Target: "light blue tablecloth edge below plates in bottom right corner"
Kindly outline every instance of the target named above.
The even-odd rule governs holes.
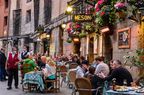
[[[136,93],[135,91],[118,92],[113,90],[107,90],[106,95],[144,95],[144,93]]]

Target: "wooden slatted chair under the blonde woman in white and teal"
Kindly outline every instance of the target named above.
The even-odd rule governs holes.
[[[44,80],[45,84],[47,83],[52,83],[53,84],[53,88],[49,89],[45,88],[46,92],[59,92],[60,91],[60,71],[59,71],[59,67],[56,65],[56,73],[55,73],[55,79],[54,80]]]

